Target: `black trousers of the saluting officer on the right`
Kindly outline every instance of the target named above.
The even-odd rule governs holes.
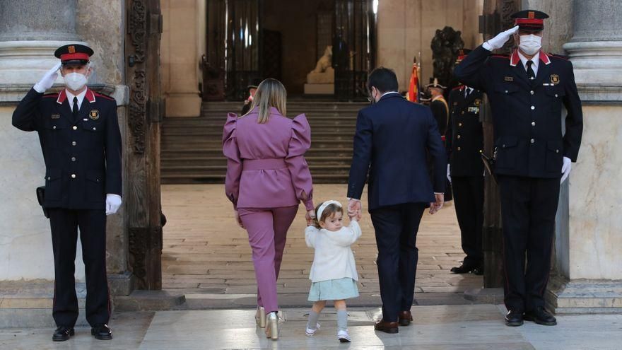
[[[507,310],[520,313],[544,308],[559,180],[498,175]]]

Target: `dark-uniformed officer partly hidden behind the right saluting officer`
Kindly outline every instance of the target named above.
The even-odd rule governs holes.
[[[457,64],[471,52],[461,49]],[[483,226],[483,129],[480,105],[483,93],[469,86],[450,92],[450,122],[447,126],[447,179],[452,182],[456,216],[460,226],[462,250],[467,257],[454,274],[483,274],[481,230]]]

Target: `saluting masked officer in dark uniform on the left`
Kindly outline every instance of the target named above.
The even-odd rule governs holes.
[[[45,159],[45,199],[54,249],[52,340],[74,335],[78,318],[75,267],[78,228],[86,272],[86,320],[96,339],[112,339],[110,293],[106,278],[106,215],[121,205],[121,133],[113,98],[86,86],[90,74],[84,45],[64,45],[50,69],[13,112],[13,126],[39,133]],[[58,76],[60,93],[44,95]]]

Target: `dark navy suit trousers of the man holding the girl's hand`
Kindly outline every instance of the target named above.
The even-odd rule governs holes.
[[[378,279],[382,318],[396,322],[399,312],[410,310],[415,292],[417,231],[426,204],[404,203],[370,211],[378,247]]]

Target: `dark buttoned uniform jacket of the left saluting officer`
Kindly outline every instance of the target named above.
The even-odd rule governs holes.
[[[88,89],[75,120],[69,103],[64,90],[31,89],[13,112],[13,126],[39,133],[46,208],[105,209],[106,194],[122,194],[117,103]]]

